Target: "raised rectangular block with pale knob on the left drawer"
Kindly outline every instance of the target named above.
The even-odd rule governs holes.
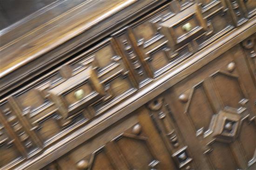
[[[63,118],[81,110],[104,95],[104,89],[92,67],[82,70],[48,91],[49,99],[59,108]]]

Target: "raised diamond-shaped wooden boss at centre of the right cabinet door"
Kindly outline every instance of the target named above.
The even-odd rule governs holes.
[[[215,119],[213,134],[217,141],[229,143],[236,139],[240,128],[241,115],[228,110],[221,110]]]

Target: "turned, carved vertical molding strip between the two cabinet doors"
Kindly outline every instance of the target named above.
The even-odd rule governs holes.
[[[161,96],[157,97],[149,101],[147,106],[154,115],[152,119],[155,120],[157,127],[161,131],[162,139],[168,145],[168,150],[172,153],[176,166],[179,169],[185,167],[186,170],[194,167],[188,146],[183,144],[182,135],[165,99]]]

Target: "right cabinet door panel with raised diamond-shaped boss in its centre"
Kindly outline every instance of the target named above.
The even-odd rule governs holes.
[[[236,45],[164,94],[196,164],[214,170],[255,166],[255,93],[248,92],[256,89],[246,67]]]

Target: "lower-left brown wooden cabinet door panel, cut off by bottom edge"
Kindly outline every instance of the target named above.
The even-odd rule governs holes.
[[[176,169],[145,107],[52,164],[56,164],[60,170],[71,167],[77,170]]]

